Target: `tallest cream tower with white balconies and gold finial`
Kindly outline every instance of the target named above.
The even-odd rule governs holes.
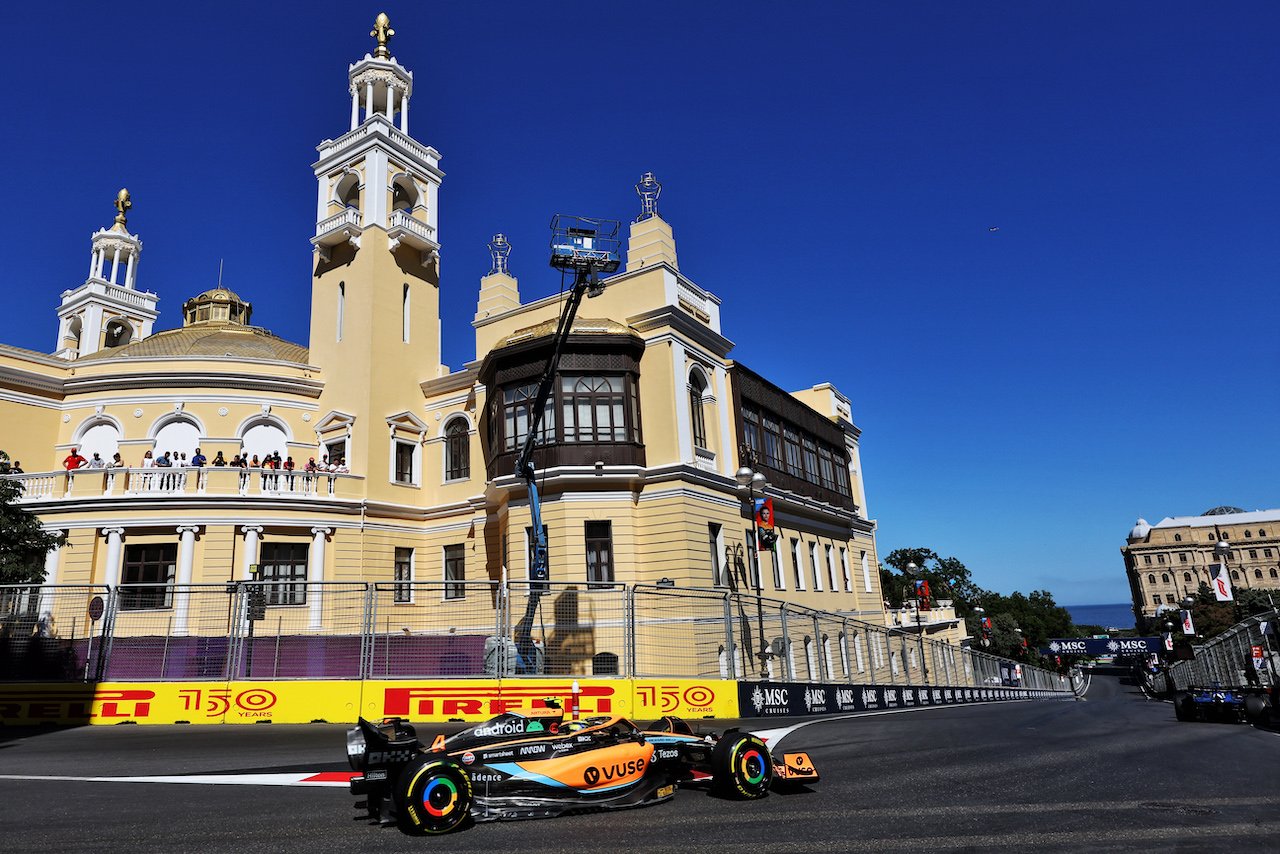
[[[378,15],[374,52],[348,68],[351,127],[317,146],[311,364],[321,406],[355,419],[344,453],[370,483],[393,479],[385,419],[421,401],[439,376],[438,193],[440,155],[410,136],[413,74],[388,49]],[[413,407],[419,408],[420,407]],[[324,440],[325,437],[321,435]]]

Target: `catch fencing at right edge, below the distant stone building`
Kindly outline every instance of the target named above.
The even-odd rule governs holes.
[[[1155,690],[1180,691],[1196,686],[1272,688],[1280,684],[1280,645],[1271,629],[1280,611],[1249,617],[1238,622],[1212,640],[1194,647],[1193,661],[1179,661],[1166,672],[1152,677]],[[1260,652],[1261,656],[1254,656]],[[1261,665],[1261,666],[1260,666]]]

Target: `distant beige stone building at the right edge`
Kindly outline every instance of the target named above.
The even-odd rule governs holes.
[[[1169,516],[1156,525],[1139,519],[1124,554],[1134,613],[1149,617],[1176,607],[1201,581],[1208,583],[1213,547],[1231,544],[1228,566],[1236,589],[1280,590],[1280,510],[1215,507],[1199,516]]]

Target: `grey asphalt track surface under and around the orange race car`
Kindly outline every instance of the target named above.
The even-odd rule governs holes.
[[[781,743],[822,773],[797,794],[744,803],[686,789],[645,809],[434,839],[353,821],[339,786],[251,782],[344,771],[343,731],[0,729],[0,851],[1280,850],[1280,735],[1179,723],[1169,703],[1115,676],[1094,676],[1078,702],[808,723]],[[157,776],[205,782],[118,780]]]

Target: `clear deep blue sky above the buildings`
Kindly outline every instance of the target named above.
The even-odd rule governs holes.
[[[20,4],[0,341],[54,348],[127,186],[161,328],[225,259],[306,343],[310,164],[381,10],[449,365],[495,232],[544,296],[550,216],[634,218],[653,170],[732,356],[851,398],[882,554],[1124,602],[1139,515],[1280,506],[1275,3]]]

